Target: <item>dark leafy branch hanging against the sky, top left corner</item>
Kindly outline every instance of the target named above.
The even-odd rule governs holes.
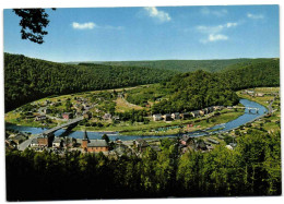
[[[22,39],[43,44],[44,36],[48,34],[44,28],[49,24],[45,9],[13,9],[13,12],[22,17],[20,21]]]

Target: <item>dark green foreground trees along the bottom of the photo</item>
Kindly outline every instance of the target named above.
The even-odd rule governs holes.
[[[7,151],[8,201],[168,196],[280,195],[281,137],[252,131],[238,146],[179,156],[177,140],[162,140],[142,157]]]

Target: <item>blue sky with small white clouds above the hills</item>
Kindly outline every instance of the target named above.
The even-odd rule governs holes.
[[[4,51],[50,61],[280,57],[277,5],[47,10],[43,45],[4,10]]]

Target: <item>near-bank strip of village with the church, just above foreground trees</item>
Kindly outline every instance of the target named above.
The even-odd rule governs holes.
[[[137,139],[131,141],[109,141],[108,136],[104,134],[102,140],[90,140],[87,132],[82,132],[82,139],[74,139],[70,136],[59,137],[59,136],[45,136],[38,135],[35,137],[25,136],[23,133],[13,133],[5,140],[5,146],[11,149],[16,149],[22,143],[29,140],[29,144],[26,148],[36,152],[54,152],[56,154],[64,155],[66,152],[81,152],[81,153],[103,153],[106,156],[121,156],[123,154],[137,156],[142,155],[147,148],[155,152],[161,152],[161,142],[163,140],[168,140],[176,144],[179,153],[184,154],[187,151],[201,151],[210,152],[215,145],[224,143],[224,136],[221,134],[217,137],[192,137],[189,135],[182,135],[181,137],[167,137],[167,139]],[[226,145],[229,149],[236,147],[236,143],[232,142]],[[21,149],[24,151],[24,149]]]

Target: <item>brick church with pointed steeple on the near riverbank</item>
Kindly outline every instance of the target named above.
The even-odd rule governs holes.
[[[87,153],[108,152],[109,147],[105,140],[88,140],[86,131],[82,140],[82,148]]]

